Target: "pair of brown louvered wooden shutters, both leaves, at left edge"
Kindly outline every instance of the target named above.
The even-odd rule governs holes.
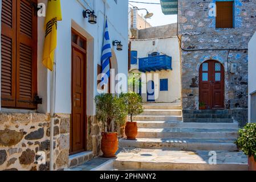
[[[26,0],[2,1],[1,24],[2,106],[36,109],[37,17],[34,8]]]

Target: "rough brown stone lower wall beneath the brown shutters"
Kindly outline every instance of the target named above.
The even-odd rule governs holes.
[[[70,115],[54,119],[54,169],[67,168]],[[40,163],[42,152],[46,164]],[[50,115],[0,113],[0,170],[46,171],[50,159]]]

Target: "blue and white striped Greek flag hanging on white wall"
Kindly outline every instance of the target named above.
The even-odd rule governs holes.
[[[108,34],[108,20],[106,20],[103,48],[101,53],[101,83],[100,83],[101,86],[104,84],[108,84],[108,78],[110,77],[110,67],[109,67],[110,57],[112,57],[112,53],[111,53],[111,44],[110,44],[110,39]]]

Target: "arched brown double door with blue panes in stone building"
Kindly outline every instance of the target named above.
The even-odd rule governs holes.
[[[215,60],[205,61],[199,71],[199,101],[206,109],[224,109],[224,67]]]

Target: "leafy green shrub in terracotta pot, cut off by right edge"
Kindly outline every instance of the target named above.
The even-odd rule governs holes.
[[[256,171],[256,123],[247,123],[240,129],[235,144],[248,156],[249,171]]]

